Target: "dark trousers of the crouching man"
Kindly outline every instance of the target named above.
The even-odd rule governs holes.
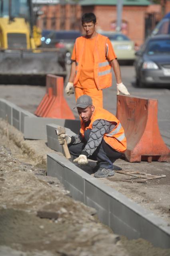
[[[83,142],[80,142],[79,144],[68,145],[70,154],[72,154],[73,156],[79,156],[81,154],[81,152],[83,151],[89,139],[90,132],[91,132],[91,129],[87,129],[84,132]],[[104,167],[106,169],[113,169],[114,161],[120,158],[121,156],[122,156],[122,153],[114,150],[111,146],[109,146],[104,141],[104,139],[102,139],[102,142],[100,143],[100,145],[97,147],[94,153],[88,158],[98,161],[99,167]]]

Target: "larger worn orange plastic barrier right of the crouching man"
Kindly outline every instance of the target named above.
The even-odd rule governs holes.
[[[117,113],[127,138],[126,159],[170,162],[158,127],[158,100],[117,95]]]

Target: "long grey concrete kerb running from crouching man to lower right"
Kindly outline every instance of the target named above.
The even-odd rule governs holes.
[[[72,197],[97,210],[100,221],[128,239],[144,238],[170,248],[168,223],[120,192],[91,177],[64,156],[47,154],[47,175],[57,177]]]

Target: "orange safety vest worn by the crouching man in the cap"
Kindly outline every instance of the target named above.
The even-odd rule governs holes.
[[[81,119],[81,127],[80,127],[81,135],[84,137],[84,131],[87,129],[92,129],[92,125],[94,121],[96,121],[97,119],[103,119],[113,124],[116,123],[116,126],[114,127],[114,129],[109,133],[105,133],[103,138],[107,144],[109,144],[112,148],[114,148],[114,150],[124,153],[127,148],[124,129],[120,124],[120,121],[116,118],[116,116],[114,116],[113,114],[111,114],[110,112],[108,112],[103,108],[98,108],[94,110],[90,119],[89,126],[85,127],[85,123]]]

